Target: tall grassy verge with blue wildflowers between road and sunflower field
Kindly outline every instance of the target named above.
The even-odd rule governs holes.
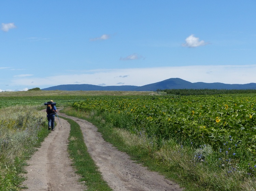
[[[65,109],[68,115],[87,119],[98,126],[106,141],[127,152],[133,159],[144,163],[151,170],[158,171],[175,180],[186,190],[252,191],[256,189],[256,167],[247,163],[252,159],[239,158],[232,137],[214,150],[210,145],[196,146],[193,142],[179,142],[175,139],[159,140],[148,136],[146,131],[124,129],[132,124],[127,116],[109,112],[79,112]],[[123,127],[123,128],[119,128]],[[146,127],[145,127],[146,128]],[[129,131],[127,131],[129,129]],[[160,146],[159,146],[160,145]],[[238,164],[243,164],[238,166]],[[248,174],[251,170],[251,174]]]

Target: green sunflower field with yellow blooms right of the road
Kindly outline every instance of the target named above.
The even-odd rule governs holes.
[[[256,94],[90,97],[75,102],[73,107],[126,115],[132,124],[124,124],[124,128],[143,128],[149,136],[159,139],[175,137],[198,146],[211,144],[214,148],[231,139],[237,144],[236,149],[256,153],[255,102]]]

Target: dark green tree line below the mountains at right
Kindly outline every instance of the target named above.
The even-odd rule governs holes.
[[[234,93],[256,93],[256,89],[158,89],[157,91],[166,92],[173,95],[215,95],[215,94],[234,94]]]

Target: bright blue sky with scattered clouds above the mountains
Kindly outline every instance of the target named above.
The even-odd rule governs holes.
[[[3,0],[0,91],[256,83],[256,1]]]

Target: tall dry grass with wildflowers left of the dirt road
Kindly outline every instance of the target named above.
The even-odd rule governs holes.
[[[0,190],[20,190],[25,160],[47,135],[44,112],[31,106],[0,109]]]

